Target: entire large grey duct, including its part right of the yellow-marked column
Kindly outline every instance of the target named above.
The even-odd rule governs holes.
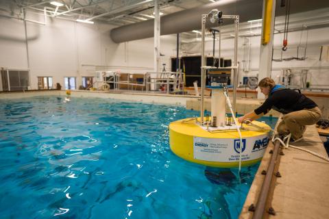
[[[291,0],[291,14],[326,8],[328,0]],[[161,35],[178,34],[193,29],[201,29],[201,16],[208,14],[212,9],[218,9],[223,14],[234,14],[240,16],[240,22],[262,18],[263,0],[221,0],[215,3],[208,3],[201,7],[191,8],[173,14],[161,16]],[[280,8],[280,3],[276,6],[276,16],[283,15],[285,8]],[[232,20],[224,20],[224,25],[232,23]],[[206,27],[214,27],[217,24],[207,23]],[[114,42],[126,42],[130,40],[141,40],[154,36],[154,19],[125,25],[112,29],[110,36]]]

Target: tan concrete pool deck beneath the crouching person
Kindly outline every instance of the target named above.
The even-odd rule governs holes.
[[[307,127],[304,140],[292,145],[300,146],[328,158],[315,125]],[[253,212],[248,211],[248,208],[257,203],[258,194],[265,178],[261,172],[267,170],[271,149],[273,149],[273,144],[270,144],[265,152],[239,218],[252,218],[253,216]],[[265,209],[267,211],[269,207],[273,207],[276,216],[265,213],[263,218],[328,218],[329,162],[298,149],[289,148],[284,149],[283,152],[284,155],[279,155],[280,162],[274,171],[274,173],[279,171],[282,177],[273,178]]]

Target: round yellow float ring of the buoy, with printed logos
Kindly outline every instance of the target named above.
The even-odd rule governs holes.
[[[269,142],[270,127],[257,121],[253,123],[263,129],[251,125],[244,125],[241,129],[244,145],[242,166],[251,166],[260,161]],[[234,147],[239,145],[239,142],[238,131],[225,130],[210,133],[191,118],[178,120],[169,125],[171,151],[178,157],[197,164],[221,168],[238,167],[239,146],[235,149]]]

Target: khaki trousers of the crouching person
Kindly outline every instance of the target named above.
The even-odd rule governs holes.
[[[291,138],[297,140],[303,136],[306,129],[305,125],[314,125],[320,117],[321,110],[319,107],[284,114],[277,131],[282,135],[291,133]]]

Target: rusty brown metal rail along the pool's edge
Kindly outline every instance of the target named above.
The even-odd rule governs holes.
[[[256,209],[254,212],[253,219],[261,219],[265,213],[265,207],[267,203],[267,197],[269,194],[269,188],[271,187],[271,181],[273,178],[274,168],[276,166],[276,159],[278,157],[280,150],[280,142],[277,140],[274,144],[273,154],[271,160],[269,161],[269,167],[267,168],[267,172],[265,175],[265,179],[262,185],[262,189],[260,190],[260,194],[258,196],[258,201],[256,205]]]

